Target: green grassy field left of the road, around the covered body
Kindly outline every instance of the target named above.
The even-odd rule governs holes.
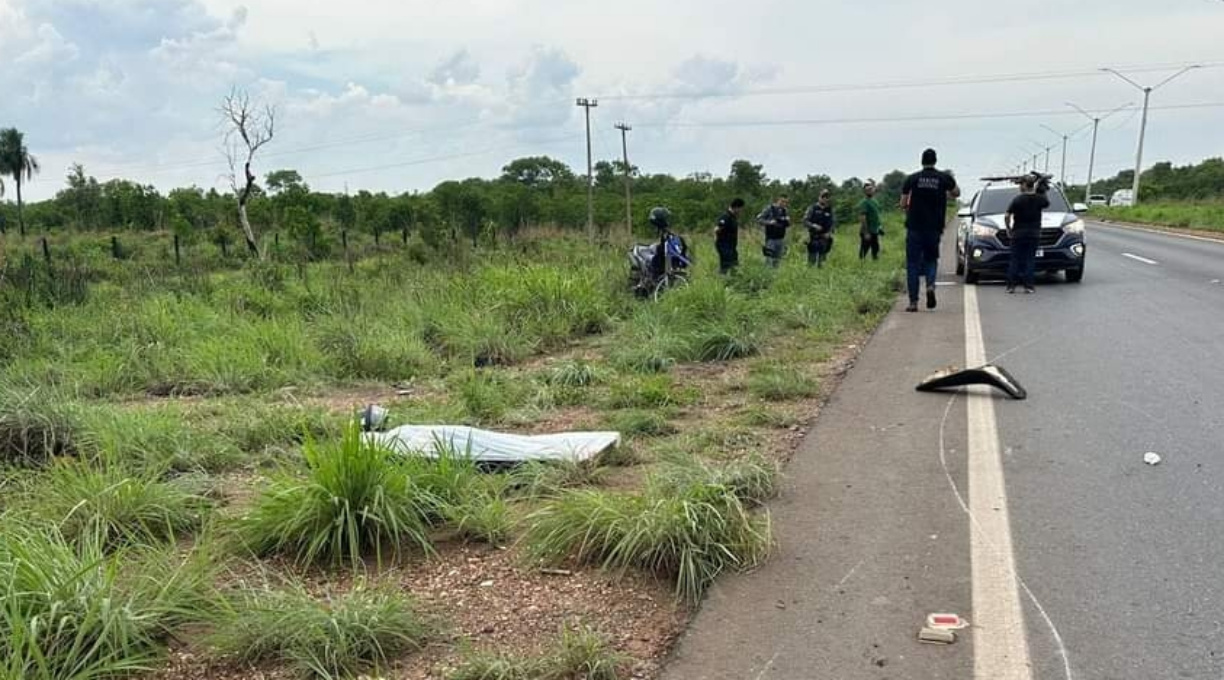
[[[625,678],[720,574],[901,247],[628,292],[619,246],[365,246],[175,267],[168,241],[5,243],[0,678]],[[798,236],[798,235],[796,235]],[[288,258],[286,258],[288,259]],[[479,367],[479,368],[477,368]],[[594,465],[485,473],[365,445],[393,423],[616,428]],[[497,614],[502,613],[501,616]],[[644,643],[643,640],[649,640]]]

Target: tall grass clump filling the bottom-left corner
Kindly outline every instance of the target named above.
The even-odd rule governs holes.
[[[0,676],[103,680],[152,669],[164,642],[208,616],[207,561],[174,552],[106,553],[95,538],[4,517]]]

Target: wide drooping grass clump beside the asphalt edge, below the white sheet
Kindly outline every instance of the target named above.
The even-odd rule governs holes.
[[[722,572],[752,567],[770,548],[769,516],[736,492],[694,482],[640,494],[567,492],[528,519],[529,554],[605,569],[638,567],[676,581],[690,603]]]

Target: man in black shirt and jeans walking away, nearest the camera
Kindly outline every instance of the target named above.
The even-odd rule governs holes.
[[[939,241],[947,224],[947,202],[961,196],[956,180],[935,169],[935,149],[922,153],[922,170],[906,177],[901,187],[901,209],[906,212],[906,279],[909,306],[918,311],[919,279],[927,279],[927,308],[935,308],[935,275]]]

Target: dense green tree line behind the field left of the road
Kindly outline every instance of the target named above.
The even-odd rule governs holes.
[[[595,165],[595,223],[603,232],[624,229],[624,175],[621,161]],[[879,201],[886,209],[896,205],[905,174],[889,172],[878,181]],[[821,190],[830,190],[842,223],[857,220],[863,180],[835,182],[827,175],[802,180],[769,177],[760,164],[736,160],[726,176],[695,172],[687,177],[647,175],[629,169],[633,191],[634,227],[646,232],[645,216],[654,205],[666,205],[678,229],[712,229],[732,198],[742,197],[755,212],[775,196],[787,194],[798,224],[803,209]],[[0,219],[18,221],[17,205],[0,203]],[[51,199],[24,205],[23,223],[34,231],[162,231],[182,238],[237,238],[235,198],[229,192],[197,186],[160,193],[152,185],[131,180],[99,182],[81,165],[73,165],[64,187]],[[586,225],[586,177],[563,161],[548,157],[512,160],[496,179],[444,181],[428,192],[359,191],[354,194],[313,191],[291,169],[268,172],[255,190],[251,221],[263,237],[279,232],[315,254],[326,253],[343,230],[376,238],[405,230],[428,245],[466,238],[472,243],[513,240],[528,226],[563,230]],[[749,218],[752,215],[748,215]]]

